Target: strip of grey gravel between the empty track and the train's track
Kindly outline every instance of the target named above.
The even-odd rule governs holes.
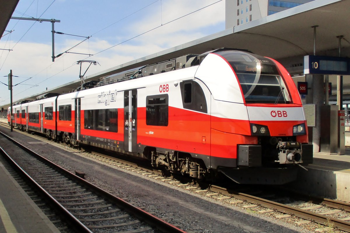
[[[29,137],[32,138],[29,139],[27,135],[17,135],[18,141],[38,141],[30,135]],[[156,216],[185,231],[315,232],[317,228],[324,227],[313,223],[299,226],[295,222],[302,219],[293,216],[288,219],[278,219],[276,216],[281,215],[280,212],[260,213],[260,210],[267,209],[259,206],[246,208],[244,205],[249,205],[246,202],[232,204],[231,202],[235,201],[234,198],[219,200],[218,197],[225,196],[210,197],[205,192],[186,189],[190,185],[177,186],[170,183],[175,182],[173,180],[161,181],[165,178],[155,179],[157,176],[149,177],[151,174],[132,172],[132,169],[127,170],[121,168],[123,166],[118,167],[94,159],[87,153],[80,153],[69,147],[63,148],[52,141],[46,142],[54,147],[29,143],[27,146],[70,172],[74,173],[75,170],[85,172],[87,181],[126,201],[135,203],[134,205],[138,207],[144,207],[146,211],[153,212]],[[52,148],[55,149],[52,151]],[[293,202],[293,200],[288,201]],[[102,217],[104,216],[103,214]]]

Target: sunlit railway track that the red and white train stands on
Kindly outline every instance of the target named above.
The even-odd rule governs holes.
[[[40,137],[40,136],[39,136]],[[47,139],[44,139],[47,140]],[[69,148],[68,145],[61,144],[62,146]],[[70,148],[71,150],[75,150]],[[111,157],[108,155],[100,154],[97,152],[89,151],[89,157],[100,161],[107,161],[108,163],[113,163],[118,167],[124,167],[127,170],[135,170],[138,173],[145,172],[145,174],[153,176],[153,174],[163,176],[163,172],[161,170],[155,170],[151,167],[140,166],[137,163],[126,161],[123,159],[118,159],[115,157]],[[154,177],[159,178],[159,177]],[[264,207],[266,210],[260,210],[261,213],[270,212],[270,211],[278,211],[280,213],[285,214],[285,217],[295,216],[301,219],[305,219],[304,223],[313,222],[320,225],[324,225],[330,228],[337,228],[339,230],[350,232],[350,205],[349,203],[336,201],[327,198],[317,198],[310,196],[303,196],[301,194],[297,194],[290,190],[278,190],[276,189],[273,194],[268,194],[265,191],[258,191],[254,187],[253,189],[245,190],[245,191],[237,191],[238,189],[228,189],[224,187],[219,187],[217,185],[208,184],[207,190],[201,190],[196,188],[198,183],[194,180],[188,179],[186,181],[178,182],[174,179],[173,176],[163,177],[165,182],[182,186],[184,189],[192,190],[194,192],[202,193],[208,192],[204,195],[211,196],[217,199],[223,199],[229,201],[231,199],[238,199],[240,202],[248,202],[252,205],[250,207],[258,206]],[[194,185],[194,186],[193,186]],[[254,190],[251,192],[251,190]],[[251,192],[251,194],[249,194]],[[255,193],[254,193],[255,192]],[[284,195],[276,195],[276,193],[284,192]],[[216,196],[214,194],[218,194]],[[225,197],[223,197],[225,196]],[[280,196],[280,197],[278,197]],[[270,198],[269,198],[270,197]],[[287,200],[287,201],[286,201]],[[291,201],[292,200],[292,201]],[[240,203],[237,201],[233,201],[232,203]],[[305,206],[305,203],[309,203]],[[327,207],[327,210],[323,210]],[[343,213],[341,216],[346,217],[335,217],[338,213]]]

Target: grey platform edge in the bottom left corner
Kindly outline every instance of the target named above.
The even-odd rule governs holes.
[[[0,162],[0,232],[59,233]]]

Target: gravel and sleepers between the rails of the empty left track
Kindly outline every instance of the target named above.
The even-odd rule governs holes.
[[[41,163],[41,161],[36,158],[30,156],[29,153],[22,151],[18,146],[15,146],[10,141],[8,141],[4,137],[0,137],[1,146],[6,148],[6,152],[10,155],[10,157],[18,163],[18,165],[26,171],[26,173],[35,177],[36,182],[39,185],[42,185],[43,188],[45,186],[55,187],[56,185],[63,185],[67,182],[71,182],[68,178],[64,177],[64,175],[57,175],[54,179],[47,178],[46,175],[52,175],[53,169],[50,166],[41,166],[40,168],[32,169],[31,166]],[[29,169],[27,169],[29,168]],[[48,172],[41,172],[41,170],[47,170]],[[41,174],[39,174],[41,173]],[[42,175],[43,174],[43,175]],[[64,193],[64,191],[62,191]],[[75,212],[82,213],[96,213],[96,212],[105,212],[107,210],[117,209],[110,202],[105,201],[102,198],[95,197],[94,200],[86,201],[85,195],[91,196],[91,192],[88,190],[82,189],[82,191],[72,192],[69,190],[65,193],[66,197],[72,199],[74,197],[74,201],[66,199],[67,202],[61,202],[61,204],[66,208],[66,210],[70,211],[73,215]],[[64,195],[53,195],[53,196],[64,196]],[[76,200],[79,199],[80,200]],[[85,199],[85,200],[84,200]],[[41,202],[39,199],[38,201]],[[126,213],[126,212],[125,212]],[[96,218],[96,217],[95,217]],[[130,220],[130,221],[129,221]],[[115,232],[127,232],[138,230],[139,228],[149,227],[146,223],[140,223],[134,216],[129,216],[128,219],[125,218],[110,218],[110,219],[99,219],[98,221],[86,221],[85,225],[90,228],[92,232],[105,232],[105,229],[113,229]]]

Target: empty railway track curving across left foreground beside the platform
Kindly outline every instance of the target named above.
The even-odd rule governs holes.
[[[184,232],[55,165],[5,134],[0,151],[77,232]]]

